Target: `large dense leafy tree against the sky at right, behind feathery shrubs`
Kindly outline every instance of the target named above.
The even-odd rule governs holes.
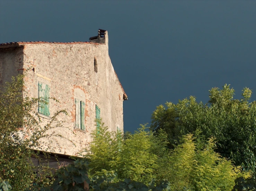
[[[163,129],[169,147],[174,148],[182,135],[194,133],[202,140],[217,139],[217,152],[256,173],[256,102],[249,103],[251,90],[244,88],[242,99],[233,99],[229,85],[210,90],[209,104],[197,103],[195,97],[157,106],[152,114],[151,130]],[[198,134],[200,132],[200,134]],[[203,145],[204,143],[202,143]]]

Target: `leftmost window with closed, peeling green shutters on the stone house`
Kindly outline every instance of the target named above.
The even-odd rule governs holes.
[[[50,87],[38,82],[38,113],[50,116],[49,112]]]

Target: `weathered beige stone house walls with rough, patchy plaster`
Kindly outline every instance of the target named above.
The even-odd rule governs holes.
[[[50,117],[58,110],[66,109],[68,116],[61,115],[63,125],[54,131],[68,137],[76,144],[59,139],[60,154],[75,155],[91,142],[90,133],[95,130],[96,105],[100,117],[116,131],[123,130],[123,100],[127,96],[117,78],[108,55],[108,35],[99,36],[99,43],[92,42],[13,42],[0,44],[0,82],[30,68],[26,72],[26,94],[38,97],[38,82],[50,87]],[[104,40],[104,41],[103,41]],[[102,43],[104,42],[104,43]],[[76,128],[76,103],[85,103],[85,130]],[[41,115],[43,120],[48,117]]]

